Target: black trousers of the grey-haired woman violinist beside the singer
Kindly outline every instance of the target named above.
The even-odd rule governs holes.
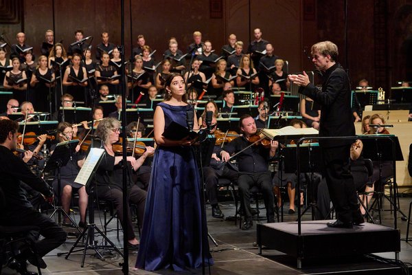
[[[137,206],[137,221],[139,225],[143,227],[143,216],[144,216],[144,206],[146,204],[147,192],[142,190],[136,185],[128,188],[128,201],[134,203]],[[133,228],[132,214],[130,212],[130,207],[128,209],[128,220],[124,223],[124,212],[123,212],[123,192],[117,188],[110,188],[106,192],[99,193],[99,199],[104,199],[106,201],[111,201],[115,205],[117,211],[117,217],[122,223],[122,226],[127,226],[128,228],[128,240],[135,239],[135,232]]]

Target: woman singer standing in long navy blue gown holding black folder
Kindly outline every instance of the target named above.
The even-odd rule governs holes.
[[[200,179],[193,141],[168,140],[163,131],[172,121],[186,125],[185,81],[181,74],[170,74],[165,81],[165,100],[157,104],[154,127],[157,149],[152,164],[140,249],[136,267],[175,271],[211,264],[207,225],[202,215]],[[194,129],[198,129],[194,118]],[[203,221],[202,221],[203,217]]]

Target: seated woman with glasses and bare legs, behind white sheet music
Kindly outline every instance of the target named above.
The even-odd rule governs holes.
[[[65,142],[71,140],[73,136],[77,133],[77,126],[72,127],[69,122],[60,122],[57,126],[57,142]],[[53,153],[57,144],[52,144],[50,147],[50,153]],[[87,192],[86,186],[82,184],[77,184],[74,182],[76,179],[80,168],[83,166],[86,160],[86,155],[80,151],[80,146],[76,147],[76,153],[70,156],[69,162],[65,166],[60,168],[60,194],[58,192],[58,180],[57,173],[55,172],[55,177],[53,181],[53,189],[56,196],[61,199],[61,205],[63,210],[67,214],[70,214],[70,202],[71,193],[76,191],[79,195],[79,210],[80,210],[80,221],[79,227],[84,228],[86,226],[86,210],[87,210]],[[71,226],[71,221],[68,217],[63,216],[63,225]]]

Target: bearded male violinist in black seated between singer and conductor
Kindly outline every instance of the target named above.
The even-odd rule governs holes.
[[[220,157],[224,162],[228,162],[233,153],[238,153],[249,146],[249,139],[258,132],[255,120],[248,114],[240,117],[239,126],[243,136],[226,144],[223,151],[220,151]],[[253,186],[260,188],[263,194],[268,223],[275,221],[272,177],[271,172],[268,170],[268,161],[275,157],[277,146],[277,141],[271,141],[270,149],[264,148],[263,146],[251,146],[239,153],[237,157],[239,166],[238,190],[240,207],[244,213],[243,230],[249,230],[253,226],[249,192]]]

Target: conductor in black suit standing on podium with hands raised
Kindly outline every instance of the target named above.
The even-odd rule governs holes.
[[[290,75],[289,79],[299,85],[299,93],[321,104],[320,137],[343,137],[355,135],[350,107],[350,80],[339,63],[338,47],[330,41],[312,45],[312,62],[323,72],[322,89],[315,87],[306,72]],[[330,198],[336,210],[337,220],[328,223],[332,228],[352,228],[364,223],[359,210],[354,178],[350,173],[350,146],[353,140],[320,140],[325,165],[325,177]]]

